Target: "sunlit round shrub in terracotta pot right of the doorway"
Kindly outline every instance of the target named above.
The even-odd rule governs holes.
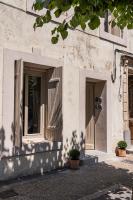
[[[125,157],[126,156],[126,148],[127,143],[125,141],[119,141],[117,144],[117,152],[116,155],[119,157]]]

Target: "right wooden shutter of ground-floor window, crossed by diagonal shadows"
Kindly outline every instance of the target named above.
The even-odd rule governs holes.
[[[62,67],[48,70],[46,138],[62,140]]]

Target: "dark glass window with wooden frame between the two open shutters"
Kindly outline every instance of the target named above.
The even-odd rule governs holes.
[[[45,106],[45,90],[42,90],[45,83],[45,72],[25,72],[24,73],[24,136],[43,135],[44,130],[44,106]]]

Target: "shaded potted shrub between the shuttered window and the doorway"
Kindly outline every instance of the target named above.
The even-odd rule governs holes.
[[[69,151],[69,163],[71,169],[78,169],[79,168],[79,156],[80,151],[78,149],[71,149]]]

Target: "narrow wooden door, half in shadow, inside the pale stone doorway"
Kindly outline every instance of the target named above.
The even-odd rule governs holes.
[[[86,149],[95,149],[94,87],[94,83],[86,83]]]

